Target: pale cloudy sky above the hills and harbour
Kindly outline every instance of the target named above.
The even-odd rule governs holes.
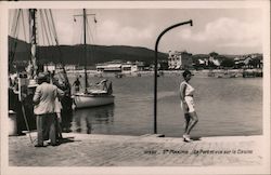
[[[88,9],[87,13],[95,14],[96,19],[94,23],[94,17],[88,16],[91,44],[154,50],[165,28],[192,19],[193,26],[183,25],[165,33],[158,51],[262,53],[261,9]],[[82,10],[53,9],[52,14],[60,44],[82,43],[82,17],[74,17],[82,14]]]

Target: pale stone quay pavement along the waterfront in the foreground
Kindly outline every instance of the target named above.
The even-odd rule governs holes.
[[[36,133],[34,139],[36,139]],[[155,135],[64,133],[60,146],[35,148],[28,136],[9,137],[10,166],[260,165],[262,136],[203,137],[192,143]]]

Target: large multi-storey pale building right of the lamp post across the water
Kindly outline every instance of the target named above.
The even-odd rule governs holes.
[[[186,51],[169,51],[168,54],[168,68],[169,69],[185,69],[193,65],[192,54]]]

